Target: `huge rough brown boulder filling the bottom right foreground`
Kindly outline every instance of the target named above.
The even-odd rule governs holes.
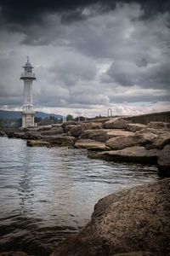
[[[91,221],[51,256],[128,256],[170,253],[170,178],[99,200]]]

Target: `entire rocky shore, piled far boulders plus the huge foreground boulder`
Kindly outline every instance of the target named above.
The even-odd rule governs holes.
[[[89,157],[156,164],[156,183],[122,190],[99,200],[90,222],[61,242],[51,256],[164,256],[170,253],[170,123],[161,119],[141,123],[136,118],[65,122],[0,131],[0,136],[22,138],[31,147],[87,148]],[[169,120],[169,119],[166,119]],[[22,252],[0,256],[26,256]]]

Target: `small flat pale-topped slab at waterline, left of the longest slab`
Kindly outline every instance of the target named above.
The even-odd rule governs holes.
[[[110,149],[109,147],[105,146],[105,143],[99,143],[89,139],[77,140],[77,142],[75,143],[75,148],[87,148],[90,150],[99,150],[99,151]]]

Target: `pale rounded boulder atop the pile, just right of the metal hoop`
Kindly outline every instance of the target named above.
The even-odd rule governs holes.
[[[103,124],[103,127],[105,129],[122,129],[122,128],[126,128],[128,123],[129,122],[127,122],[126,120],[124,120],[122,118],[114,118],[114,119],[110,119],[109,121],[105,122]]]

